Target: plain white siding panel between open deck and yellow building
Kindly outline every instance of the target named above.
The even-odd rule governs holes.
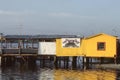
[[[55,42],[39,42],[38,54],[55,55],[56,43]]]

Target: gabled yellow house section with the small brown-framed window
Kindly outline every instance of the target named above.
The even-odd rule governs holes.
[[[116,37],[104,33],[87,37],[83,41],[83,52],[87,57],[114,57]]]

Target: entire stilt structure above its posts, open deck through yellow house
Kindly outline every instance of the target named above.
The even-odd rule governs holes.
[[[86,38],[76,35],[12,35],[4,38],[1,40],[3,54],[115,57],[117,53],[117,37],[104,33]]]

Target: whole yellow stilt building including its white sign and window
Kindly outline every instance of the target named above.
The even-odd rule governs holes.
[[[116,37],[100,33],[84,39],[56,39],[56,56],[114,57]]]

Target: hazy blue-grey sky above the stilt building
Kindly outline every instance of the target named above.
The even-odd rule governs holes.
[[[116,34],[120,0],[0,0],[4,34]]]

